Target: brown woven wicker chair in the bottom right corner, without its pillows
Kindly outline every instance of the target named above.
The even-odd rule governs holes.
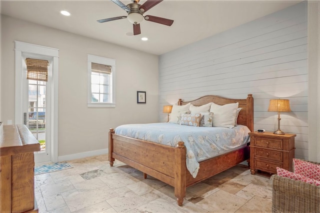
[[[320,185],[281,177],[277,174],[271,175],[270,185],[272,212],[320,212]]]

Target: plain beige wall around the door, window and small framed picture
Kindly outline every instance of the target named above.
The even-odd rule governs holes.
[[[109,128],[158,121],[158,56],[1,15],[1,113],[14,121],[14,40],[59,49],[59,159],[100,153]],[[87,54],[116,60],[115,108],[87,107]],[[136,91],[146,91],[146,104]]]

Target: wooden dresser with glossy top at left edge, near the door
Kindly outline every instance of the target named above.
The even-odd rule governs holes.
[[[0,212],[37,212],[34,151],[40,144],[25,125],[0,125]]]

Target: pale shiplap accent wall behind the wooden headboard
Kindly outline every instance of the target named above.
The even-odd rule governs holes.
[[[214,27],[214,22],[212,22]],[[200,32],[199,32],[200,33]],[[181,38],[183,39],[183,38]],[[295,157],[308,158],[307,2],[167,52],[159,57],[159,120],[163,105],[206,94],[254,98],[254,129],[277,129],[269,99],[290,100],[281,130],[296,134]]]

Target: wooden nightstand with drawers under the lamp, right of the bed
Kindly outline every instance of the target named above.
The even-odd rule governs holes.
[[[296,134],[274,134],[273,132],[249,132],[250,169],[276,173],[276,167],[292,171],[294,137]]]

